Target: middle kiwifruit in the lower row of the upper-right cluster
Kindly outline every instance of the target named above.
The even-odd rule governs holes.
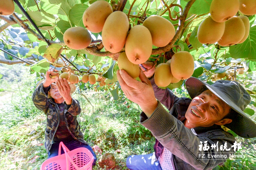
[[[225,22],[225,31],[218,44],[223,47],[235,45],[245,35],[245,26],[241,18],[233,17]]]

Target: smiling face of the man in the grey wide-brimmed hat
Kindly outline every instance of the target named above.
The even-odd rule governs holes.
[[[194,127],[209,127],[222,120],[229,110],[224,101],[206,90],[191,101],[185,117]]]

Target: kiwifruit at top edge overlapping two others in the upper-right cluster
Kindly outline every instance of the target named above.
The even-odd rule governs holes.
[[[239,0],[212,0],[210,14],[215,22],[225,22],[236,15]]]

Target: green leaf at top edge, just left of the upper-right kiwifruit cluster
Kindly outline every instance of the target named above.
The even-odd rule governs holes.
[[[183,9],[186,6],[187,2],[180,1],[180,4],[183,7]],[[210,12],[211,3],[212,3],[212,0],[196,0],[194,2],[194,4],[191,6],[188,13],[201,15],[201,14],[205,14],[207,12]]]

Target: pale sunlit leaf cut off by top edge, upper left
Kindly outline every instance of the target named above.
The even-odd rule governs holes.
[[[41,0],[41,8],[50,14],[67,15],[71,9],[67,0]]]

